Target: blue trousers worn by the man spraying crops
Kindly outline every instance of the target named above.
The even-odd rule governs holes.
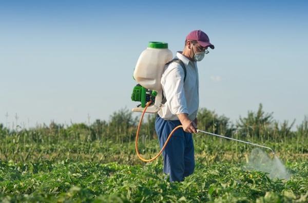
[[[157,115],[155,130],[162,148],[170,132],[181,125],[179,120],[164,120]],[[164,152],[164,173],[169,174],[170,181],[183,181],[184,178],[194,172],[195,156],[194,141],[191,133],[182,128],[175,131]]]

